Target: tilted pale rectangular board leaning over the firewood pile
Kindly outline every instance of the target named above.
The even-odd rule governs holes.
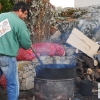
[[[72,30],[66,42],[91,57],[94,60],[94,65],[97,66],[98,62],[94,59],[94,55],[97,54],[100,45],[89,39],[76,28]]]

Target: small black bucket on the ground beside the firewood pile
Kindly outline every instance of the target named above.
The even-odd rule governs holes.
[[[93,82],[89,80],[82,80],[80,82],[80,94],[83,96],[92,95]]]

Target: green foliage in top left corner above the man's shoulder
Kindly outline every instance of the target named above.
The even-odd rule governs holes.
[[[0,13],[11,11],[13,0],[0,0],[0,3],[2,5],[2,10],[0,10]]]

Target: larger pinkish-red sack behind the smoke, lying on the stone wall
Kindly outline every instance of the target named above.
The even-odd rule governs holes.
[[[47,55],[47,56],[64,56],[65,50],[64,48],[57,44],[57,43],[35,43],[33,44],[33,48],[37,53],[40,55]]]

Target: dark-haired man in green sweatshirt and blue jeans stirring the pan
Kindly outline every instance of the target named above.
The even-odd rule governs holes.
[[[19,82],[16,55],[19,47],[31,47],[29,31],[23,21],[27,16],[25,2],[14,5],[12,12],[0,14],[0,76],[6,77],[8,100],[18,100]]]

